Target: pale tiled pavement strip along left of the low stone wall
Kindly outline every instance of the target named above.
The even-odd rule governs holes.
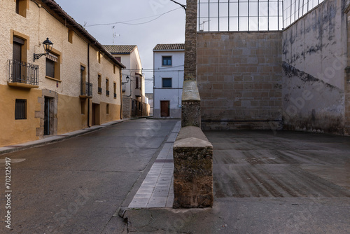
[[[174,202],[173,146],[181,129],[179,125],[181,126],[181,121],[176,123],[172,134],[162,146],[155,163],[130,202],[129,208],[172,207]]]

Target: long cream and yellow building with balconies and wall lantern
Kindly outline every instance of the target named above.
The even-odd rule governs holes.
[[[124,65],[55,1],[3,1],[0,22],[0,147],[121,118]]]

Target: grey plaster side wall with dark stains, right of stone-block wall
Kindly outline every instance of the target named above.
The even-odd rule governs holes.
[[[283,128],[344,134],[346,41],[341,0],[283,32]]]

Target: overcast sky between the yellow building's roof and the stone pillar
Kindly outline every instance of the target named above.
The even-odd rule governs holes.
[[[153,68],[153,48],[158,43],[185,42],[185,11],[170,0],[55,1],[102,45],[113,44],[113,32],[114,45],[137,45],[144,69]],[[186,0],[177,1],[186,4]],[[153,92],[153,81],[149,81],[153,72],[145,72],[145,76],[146,92]]]

